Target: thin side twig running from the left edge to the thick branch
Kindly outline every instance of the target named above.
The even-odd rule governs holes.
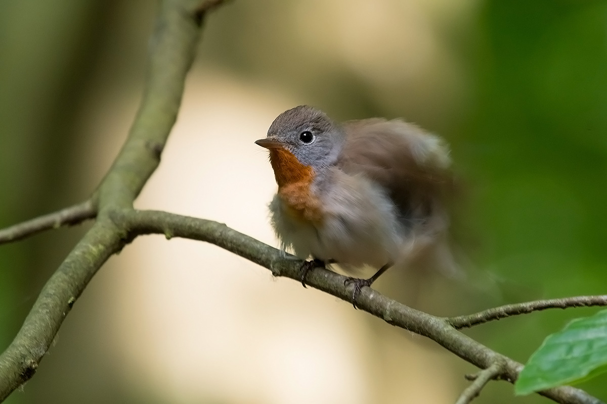
[[[0,244],[24,239],[44,230],[76,225],[97,216],[92,199],[0,230]]]

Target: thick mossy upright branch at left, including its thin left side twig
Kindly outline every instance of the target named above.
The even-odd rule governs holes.
[[[42,288],[32,310],[13,342],[0,356],[0,401],[33,376],[47,353],[59,326],[90,279],[126,242],[120,223],[108,212],[132,207],[141,188],[158,167],[183,95],[186,73],[195,54],[206,12],[219,0],[164,0],[150,41],[146,91],[137,118],[114,164],[95,192],[96,209],[89,205],[68,208],[75,217],[97,220]],[[73,214],[72,214],[73,213]],[[59,214],[50,214],[19,227],[27,236],[54,225]],[[25,229],[25,230],[24,230]],[[7,232],[7,234],[10,232]]]

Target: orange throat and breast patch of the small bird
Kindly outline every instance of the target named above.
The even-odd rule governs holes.
[[[320,200],[311,190],[312,167],[301,164],[293,153],[283,148],[270,149],[270,163],[278,184],[278,196],[286,205],[287,213],[300,221],[320,222]]]

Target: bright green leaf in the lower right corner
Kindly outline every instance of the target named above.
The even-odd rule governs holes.
[[[607,371],[607,310],[575,319],[546,337],[514,386],[518,396],[579,383]]]

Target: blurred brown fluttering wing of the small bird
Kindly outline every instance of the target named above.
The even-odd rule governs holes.
[[[345,122],[347,140],[337,165],[387,190],[407,227],[444,210],[453,187],[449,150],[441,138],[407,122],[364,119]]]

